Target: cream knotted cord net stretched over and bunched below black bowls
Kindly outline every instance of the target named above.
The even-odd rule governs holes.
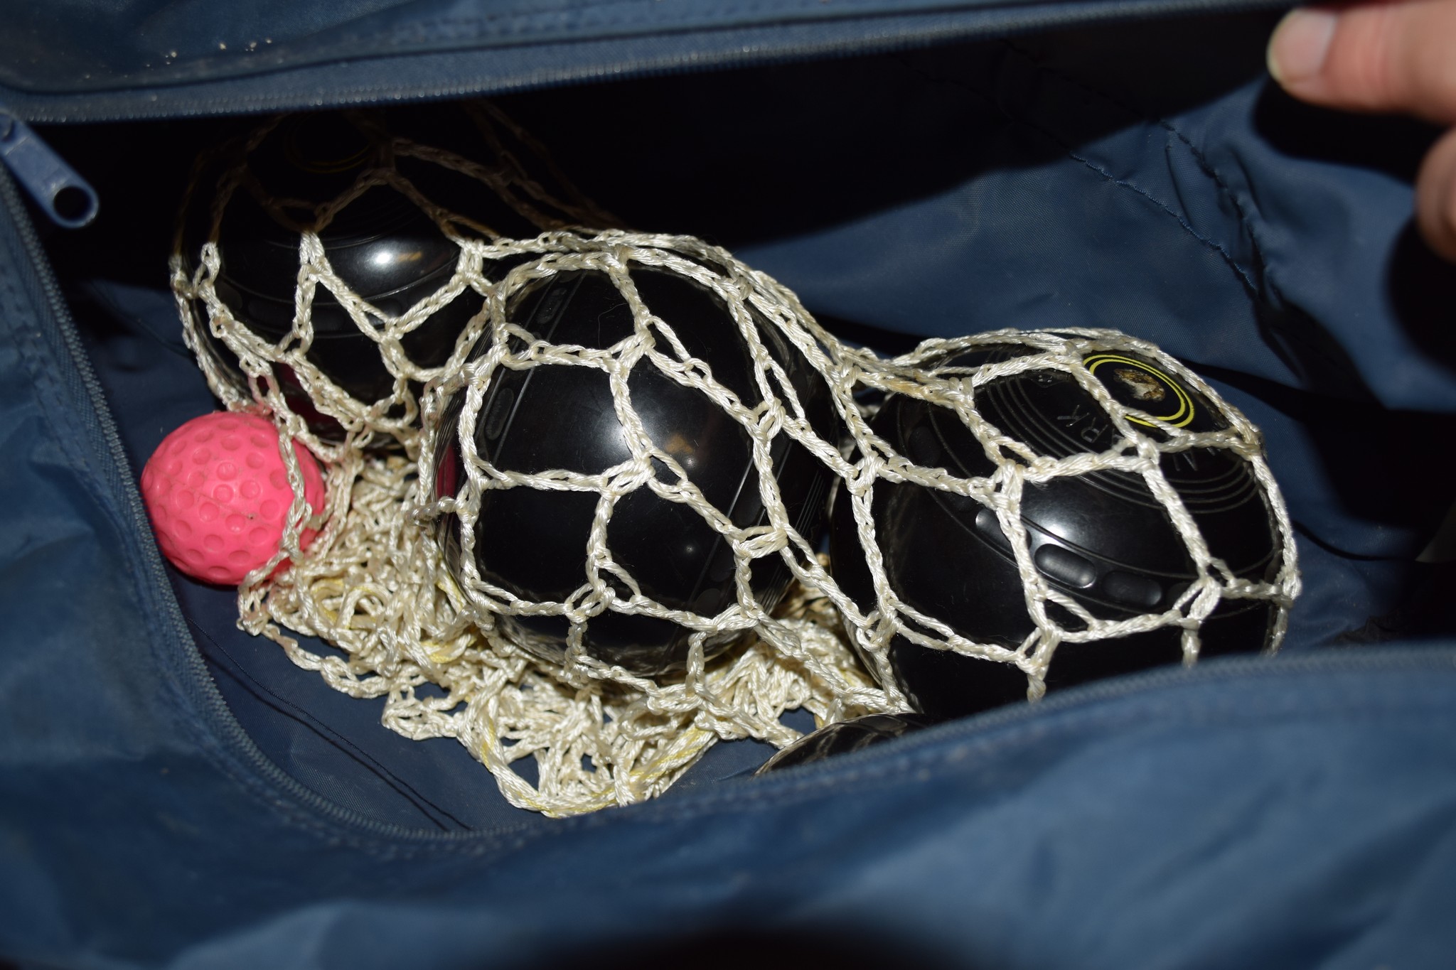
[[[498,111],[472,109],[486,141],[501,147],[495,127],[510,127],[523,144],[533,144]],[[1181,627],[1185,660],[1198,653],[1198,625],[1223,599],[1264,599],[1280,606],[1273,646],[1283,637],[1287,606],[1297,593],[1293,534],[1261,452],[1258,430],[1222,403],[1197,375],[1155,346],[1111,330],[1019,333],[1002,330],[957,340],[929,340],[911,353],[881,359],[826,332],[795,295],[727,252],[681,236],[633,233],[620,228],[581,230],[569,225],[610,225],[606,214],[572,195],[555,199],[531,179],[510,151],[501,148],[486,164],[448,151],[389,135],[368,119],[387,145],[380,163],[363,170],[338,198],[323,204],[278,199],[252,179],[246,160],[269,134],[264,125],[223,151],[229,164],[217,185],[194,182],[189,205],[208,199],[211,230],[197,252],[185,252],[179,233],[172,260],[172,285],[188,345],[208,384],[233,410],[268,414],[280,430],[280,454],[296,500],[278,554],[239,588],[239,625],[262,634],[290,659],[352,697],[384,698],[383,723],[412,739],[454,737],[494,774],[515,806],[552,816],[628,804],[664,791],[718,740],[756,737],[785,746],[798,737],[780,717],[807,708],[818,723],[859,714],[907,710],[906,698],[888,675],[887,649],[895,634],[932,649],[1013,663],[1028,675],[1028,695],[1040,697],[1042,678],[1060,643],[1117,637],[1158,627]],[[451,212],[393,166],[395,159],[424,159],[486,185],[518,214],[543,230],[534,239],[507,239],[489,225]],[[204,170],[199,166],[199,172]],[[558,183],[565,183],[556,176]],[[399,192],[459,247],[454,273],[434,294],[405,313],[390,316],[370,305],[329,265],[320,241],[329,223],[364,192]],[[269,340],[250,330],[218,295],[218,239],[229,199],[250,192],[280,220],[312,218],[300,225],[298,276],[293,329]],[[511,260],[504,276],[488,272]],[[678,339],[674,321],[662,320],[638,295],[632,268],[654,268],[693,281],[727,307],[732,326],[753,361],[759,401],[738,398],[713,380]],[[590,270],[612,281],[632,310],[633,332],[612,348],[552,345],[511,318],[513,298],[556,273]],[[395,378],[393,391],[379,401],[360,401],[329,380],[309,358],[313,343],[312,305],[319,288],[342,305],[361,334],[373,340]],[[450,358],[427,368],[409,359],[403,337],[464,291],[480,298],[480,311],[464,326]],[[678,324],[681,326],[681,324]],[[826,441],[811,426],[783,365],[769,352],[760,327],[773,327],[823,377],[850,445]],[[245,380],[218,359],[205,333],[237,359]],[[1015,356],[978,368],[945,366],[958,352],[1015,346]],[[1125,407],[1083,365],[1095,350],[1136,352],[1166,368],[1220,409],[1227,428],[1188,432]],[[272,380],[275,366],[291,368],[310,401],[338,420],[339,441],[322,439],[290,406]],[[568,470],[521,473],[486,461],[475,445],[475,428],[492,377],[502,368],[581,366],[604,372],[630,458],[584,474]],[[751,441],[753,462],[766,522],[734,525],[693,484],[673,454],[654,444],[632,406],[628,378],[635,368],[654,368],[680,387],[713,401]],[[1057,369],[1076,380],[1108,413],[1117,441],[1099,454],[1050,458],[993,428],[976,410],[976,394],[987,381],[1022,371]],[[422,400],[415,388],[425,385]],[[952,410],[986,445],[996,470],[987,477],[958,478],[943,468],[914,464],[869,428],[872,404],[865,391],[903,394]],[[464,477],[453,496],[435,496],[434,457],[446,404],[463,394],[456,444]],[[1131,420],[1153,425],[1156,439],[1133,429]],[[799,535],[786,512],[772,473],[773,445],[792,438],[842,483],[840,502],[852,502],[877,605],[862,611],[836,585],[827,558],[815,554],[817,537]],[[288,439],[303,441],[326,467],[328,503],[310,516],[303,480]],[[390,446],[381,448],[381,444]],[[1271,582],[1251,582],[1230,573],[1208,553],[1197,524],[1159,468],[1162,452],[1187,448],[1229,449],[1248,462],[1274,513],[1281,560]],[[657,468],[654,468],[657,465]],[[665,468],[665,473],[661,471]],[[1019,499],[1028,484],[1096,470],[1121,470],[1142,477],[1166,509],[1184,540],[1198,579],[1162,612],[1123,621],[1092,617],[1086,608],[1045,582],[1028,553]],[[1015,551],[1025,604],[1035,633],[1016,649],[970,640],[936,617],[903,602],[891,588],[882,547],[875,537],[871,502],[877,483],[913,483],[968,496],[993,509]],[[475,519],[482,496],[494,489],[546,489],[597,496],[597,515],[582,550],[582,585],[562,602],[533,602],[483,579],[476,569]],[[649,489],[660,499],[693,509],[732,548],[734,596],[706,617],[670,608],[642,593],[613,558],[607,524],[622,499]],[[462,569],[451,574],[431,531],[434,521],[454,515],[464,547]],[[309,550],[298,547],[303,528],[317,528]],[[291,569],[271,574],[287,557]],[[794,586],[769,612],[754,598],[750,580],[764,557],[779,557]],[[1047,605],[1066,609],[1080,628],[1059,625]],[[670,620],[692,630],[686,670],[645,678],[590,656],[591,617],[606,611]],[[571,622],[559,663],[515,644],[502,617],[558,615]],[[313,652],[294,634],[314,636],[333,652]],[[709,660],[711,638],[738,634],[737,646]],[[875,682],[850,644],[879,668]],[[529,781],[514,765],[536,762]]]

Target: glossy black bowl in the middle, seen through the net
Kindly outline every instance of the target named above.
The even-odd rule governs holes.
[[[757,404],[761,396],[753,359],[721,300],[674,273],[636,265],[630,272],[648,308],[674,329],[693,358],[712,368],[713,380],[748,407]],[[550,278],[515,302],[511,318],[556,345],[610,348],[633,333],[626,300],[604,273],[588,270]],[[839,420],[823,378],[770,324],[760,321],[759,330],[788,372],[815,432],[834,441]],[[633,366],[628,388],[648,435],[715,508],[740,528],[767,522],[751,439],[737,422],[705,394],[674,382],[646,361]],[[457,393],[441,416],[435,455],[440,496],[457,494],[463,481],[457,442],[463,397]],[[562,468],[597,474],[630,458],[607,375],[574,365],[496,369],[475,444],[495,467],[518,473]],[[788,435],[775,438],[772,458],[789,521],[814,542],[826,526],[831,473]],[[658,474],[671,480],[667,465]],[[480,576],[523,599],[563,602],[587,582],[585,548],[597,500],[596,492],[486,490],[475,526]],[[437,538],[447,564],[459,574],[463,547],[454,515],[438,519]],[[735,599],[729,544],[697,512],[645,486],[616,505],[607,547],[646,596],[671,609],[713,617]],[[753,563],[751,589],[764,609],[782,599],[789,580],[778,554]],[[625,588],[619,592],[626,593]],[[562,659],[569,630],[563,617],[499,621],[523,646],[549,660]],[[686,663],[689,634],[667,620],[609,611],[588,621],[587,652],[635,673],[662,675]],[[732,640],[724,636],[706,646],[721,652]]]

